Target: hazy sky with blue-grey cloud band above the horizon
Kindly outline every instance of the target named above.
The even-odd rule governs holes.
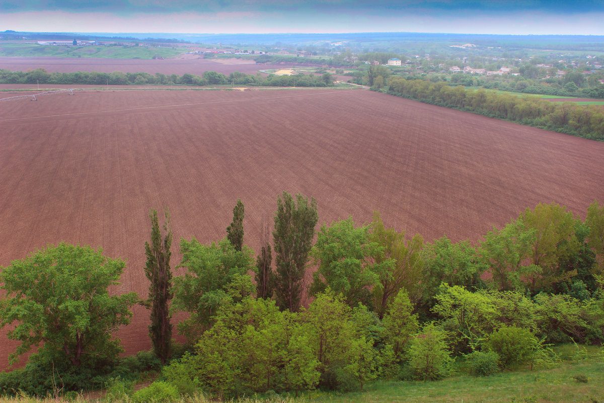
[[[604,0],[0,0],[0,31],[604,35]]]

